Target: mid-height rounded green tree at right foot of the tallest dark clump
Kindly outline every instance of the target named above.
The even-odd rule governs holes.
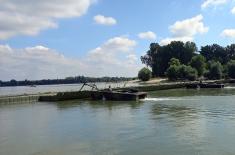
[[[206,67],[205,58],[202,55],[196,55],[192,58],[190,65],[197,70],[198,76],[202,76]]]

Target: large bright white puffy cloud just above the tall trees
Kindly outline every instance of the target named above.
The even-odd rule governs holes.
[[[203,16],[198,15],[190,19],[177,21],[169,27],[172,37],[161,40],[160,44],[166,45],[171,41],[193,41],[197,34],[208,32],[209,27],[204,26]]]

